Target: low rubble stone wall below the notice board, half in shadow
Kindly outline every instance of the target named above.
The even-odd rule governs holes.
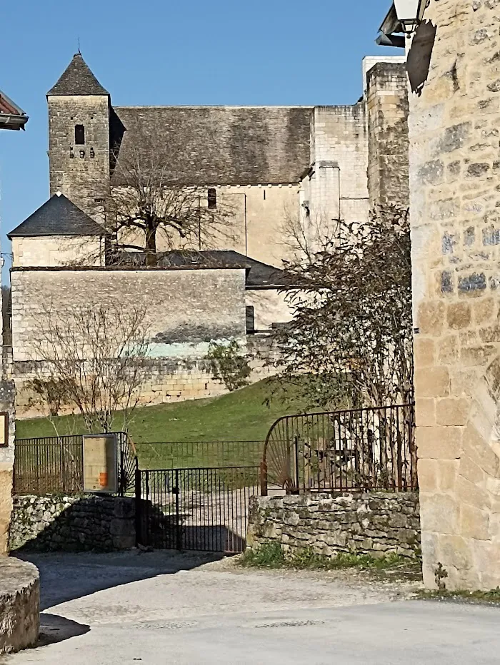
[[[113,552],[136,544],[135,502],[95,494],[14,497],[11,550]]]

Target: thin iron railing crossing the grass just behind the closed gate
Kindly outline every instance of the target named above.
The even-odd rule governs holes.
[[[264,441],[136,443],[141,469],[259,466]]]

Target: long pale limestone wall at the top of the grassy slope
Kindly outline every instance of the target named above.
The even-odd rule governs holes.
[[[47,376],[37,350],[40,322],[68,308],[143,308],[149,325],[149,370],[141,405],[214,397],[226,392],[205,360],[211,340],[246,343],[244,270],[12,270],[12,330],[18,417],[46,414],[30,384]],[[66,319],[65,319],[66,320]],[[251,362],[252,379],[269,375]],[[68,409],[61,406],[61,413]],[[0,449],[1,450],[1,449]],[[9,494],[10,497],[10,494]],[[5,499],[7,501],[7,498]],[[10,498],[9,498],[10,501]]]

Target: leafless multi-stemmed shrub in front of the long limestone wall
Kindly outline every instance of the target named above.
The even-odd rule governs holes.
[[[31,390],[51,415],[66,405],[89,432],[111,431],[118,417],[126,430],[148,374],[144,315],[121,305],[42,311],[33,350],[43,367]]]

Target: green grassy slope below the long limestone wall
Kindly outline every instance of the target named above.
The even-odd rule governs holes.
[[[208,400],[143,407],[134,412],[129,432],[135,442],[264,440],[276,418],[301,410],[299,400],[285,405],[278,398],[267,407],[264,400],[269,394],[269,380],[263,380]],[[55,421],[60,434],[84,431],[78,418]],[[16,422],[17,438],[44,436],[54,436],[46,418]]]

